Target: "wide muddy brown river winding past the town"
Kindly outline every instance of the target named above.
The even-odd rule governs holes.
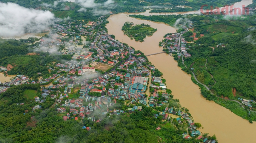
[[[234,4],[247,6],[252,0],[242,0],[242,2]],[[196,11],[197,12],[197,11]],[[196,13],[194,12],[194,13]],[[168,14],[186,14],[193,12],[168,13]],[[136,13],[138,14],[138,13]],[[153,15],[154,13],[140,13],[142,15]],[[116,39],[127,43],[140,50],[145,55],[158,53],[162,51],[162,47],[158,46],[166,33],[176,32],[176,29],[169,25],[148,20],[138,20],[128,17],[129,13],[115,14],[108,18],[109,24],[107,29],[109,34],[115,35]],[[155,15],[159,15],[156,13]],[[134,24],[149,24],[158,30],[144,42],[136,42],[123,34],[121,31],[125,22],[133,22]],[[248,120],[242,119],[230,110],[206,100],[201,94],[199,86],[191,80],[191,75],[183,72],[173,57],[165,53],[148,57],[149,61],[161,72],[166,79],[168,88],[172,90],[174,98],[178,98],[185,108],[190,110],[195,122],[202,124],[204,129],[200,129],[202,133],[216,135],[219,143],[255,143],[254,131],[256,131],[256,122],[250,124]]]

